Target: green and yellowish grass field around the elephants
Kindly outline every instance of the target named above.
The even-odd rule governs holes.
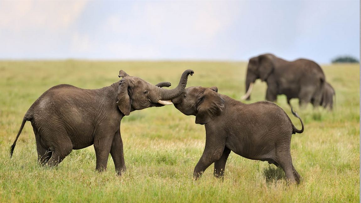
[[[174,106],[134,111],[122,120],[127,172],[116,176],[95,171],[92,146],[73,150],[57,168],[38,166],[30,122],[9,147],[23,115],[50,87],[67,83],[95,89],[117,80],[119,70],[153,84],[178,84],[186,69],[195,71],[190,86],[217,86],[237,100],[244,94],[244,62],[94,62],[0,61],[0,202],[359,202],[360,198],[360,70],[359,65],[323,65],[336,90],[334,111],[299,109],[305,124],[291,141],[293,165],[301,184],[287,186],[284,172],[267,162],[231,153],[224,181],[213,177],[213,164],[198,181],[193,169],[205,144],[203,125]],[[252,101],[264,100],[266,85],[258,81]],[[298,119],[284,96],[278,103],[297,128]]]

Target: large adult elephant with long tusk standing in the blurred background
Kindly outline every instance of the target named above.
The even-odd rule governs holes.
[[[249,100],[253,83],[261,79],[267,83],[266,100],[277,101],[278,94],[299,98],[299,104],[312,103],[319,106],[325,85],[325,75],[321,67],[308,59],[286,61],[273,54],[262,54],[249,59],[246,75],[246,94],[243,100]]]

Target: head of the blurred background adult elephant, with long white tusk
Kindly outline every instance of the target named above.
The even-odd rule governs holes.
[[[256,79],[267,81],[268,76],[270,76],[274,69],[274,58],[273,54],[263,54],[249,59],[246,75],[246,93],[242,100],[251,99],[251,92]]]

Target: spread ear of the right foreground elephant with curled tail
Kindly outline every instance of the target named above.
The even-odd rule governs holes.
[[[196,124],[206,124],[221,115],[224,102],[217,92],[206,88],[197,105]]]

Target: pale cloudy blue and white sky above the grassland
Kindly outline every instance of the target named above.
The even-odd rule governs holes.
[[[360,58],[359,1],[0,1],[0,59]]]

